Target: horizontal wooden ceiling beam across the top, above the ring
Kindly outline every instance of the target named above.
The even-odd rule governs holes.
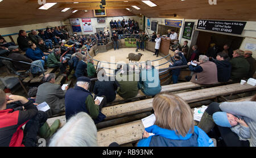
[[[101,3],[79,3],[79,4],[63,4],[60,5],[59,8],[84,8],[84,7],[100,7]],[[139,5],[138,2],[109,2],[104,5],[104,7],[118,7],[118,6],[136,6]]]

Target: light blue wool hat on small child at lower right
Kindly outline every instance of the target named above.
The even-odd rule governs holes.
[[[216,112],[212,116],[213,121],[221,127],[232,127],[229,123],[226,112]]]

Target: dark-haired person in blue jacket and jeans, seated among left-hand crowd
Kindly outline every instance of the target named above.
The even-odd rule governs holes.
[[[34,43],[29,44],[30,48],[26,51],[26,56],[32,61],[40,60],[44,66],[44,61],[47,61],[47,56],[44,55],[41,49],[36,48]]]

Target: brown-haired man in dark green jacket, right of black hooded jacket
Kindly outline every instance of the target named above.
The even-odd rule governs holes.
[[[244,53],[243,50],[237,49],[232,54],[233,58],[230,60],[232,65],[230,79],[234,82],[239,82],[241,79],[246,78],[249,73],[250,64],[243,56]]]

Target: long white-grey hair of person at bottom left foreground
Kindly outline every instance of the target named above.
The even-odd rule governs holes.
[[[49,147],[97,147],[97,128],[92,118],[80,112],[68,119],[68,122],[50,140]]]

